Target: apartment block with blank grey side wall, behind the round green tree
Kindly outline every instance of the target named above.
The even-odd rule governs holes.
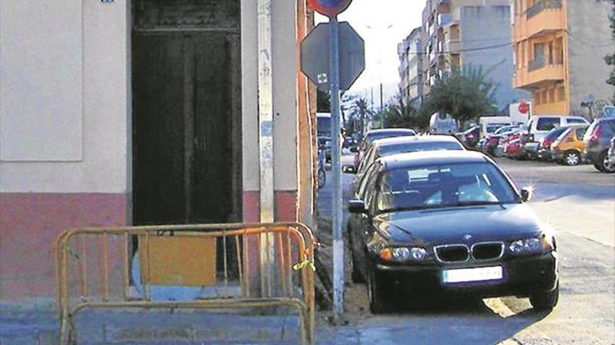
[[[424,90],[451,68],[482,68],[498,109],[530,94],[513,88],[509,0],[428,0],[423,10]]]

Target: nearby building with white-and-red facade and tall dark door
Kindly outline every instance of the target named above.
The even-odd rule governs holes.
[[[272,2],[275,220],[309,222],[310,11]],[[257,13],[255,0],[0,2],[0,302],[55,296],[64,229],[259,220]]]

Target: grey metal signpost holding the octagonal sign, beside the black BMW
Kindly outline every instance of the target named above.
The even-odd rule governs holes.
[[[338,17],[329,18],[331,77],[331,174],[333,175],[333,321],[344,314],[344,240],[342,238],[342,164],[340,148],[340,33]]]

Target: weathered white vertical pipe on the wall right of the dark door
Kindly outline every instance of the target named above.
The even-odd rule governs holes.
[[[271,0],[259,0],[259,164],[261,222],[273,222],[273,75],[271,63]],[[270,277],[273,236],[260,235],[261,293]]]

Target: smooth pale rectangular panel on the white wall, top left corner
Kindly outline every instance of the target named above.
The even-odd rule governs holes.
[[[1,160],[81,160],[81,20],[74,0],[0,2]]]

